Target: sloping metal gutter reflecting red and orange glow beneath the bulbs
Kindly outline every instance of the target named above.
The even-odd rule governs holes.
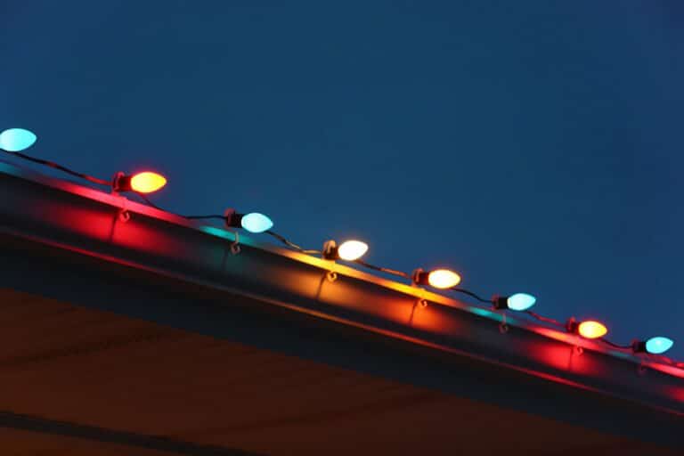
[[[126,211],[130,218],[120,216]],[[0,233],[684,414],[684,371],[0,161]],[[327,273],[337,273],[329,281]],[[428,305],[420,305],[420,300]]]

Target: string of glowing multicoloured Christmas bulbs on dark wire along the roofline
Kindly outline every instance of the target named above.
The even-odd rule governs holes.
[[[64,167],[53,161],[37,159],[21,152],[31,147],[36,141],[36,134],[33,134],[32,132],[23,128],[11,128],[4,130],[4,132],[0,134],[0,151],[12,155],[13,157],[25,159],[46,167],[52,167],[66,174],[84,179],[90,183],[109,186],[111,191],[114,193],[126,191],[133,192],[152,208],[164,210],[159,208],[145,196],[147,193],[159,191],[166,185],[167,179],[164,176],[151,171],[144,171],[134,175],[126,175],[119,172],[114,175],[113,179],[111,180],[100,179],[92,175],[79,173],[73,169],[70,169],[69,167]],[[634,354],[655,354],[658,355],[658,359],[660,361],[677,368],[684,369],[684,362],[676,362],[662,355],[674,345],[674,341],[671,338],[657,336],[654,338],[648,338],[646,340],[634,340],[630,345],[615,344],[606,338],[608,330],[607,327],[601,322],[592,320],[576,321],[574,318],[571,318],[566,323],[563,323],[534,313],[529,309],[536,304],[536,298],[527,293],[516,293],[510,296],[494,295],[491,299],[486,299],[485,297],[481,297],[473,291],[459,288],[458,285],[461,281],[460,274],[449,269],[435,269],[426,271],[422,268],[418,268],[413,271],[413,273],[409,274],[402,271],[396,271],[394,269],[366,263],[361,258],[368,251],[368,244],[362,242],[361,240],[346,240],[340,244],[338,244],[335,240],[328,240],[323,245],[322,250],[306,249],[288,240],[281,234],[273,232],[271,229],[273,227],[273,221],[268,216],[257,212],[241,214],[237,213],[234,209],[229,208],[226,209],[224,215],[214,214],[206,216],[182,217],[189,220],[221,220],[228,228],[241,228],[248,232],[254,233],[263,232],[272,236],[276,240],[279,240],[287,247],[293,248],[300,253],[308,255],[321,255],[324,259],[330,261],[343,260],[355,263],[380,273],[387,273],[411,280],[411,285],[413,286],[426,285],[435,289],[450,290],[464,294],[480,303],[491,305],[491,308],[495,311],[511,310],[522,312],[531,316],[535,320],[548,323],[558,329],[566,330],[569,333],[577,334],[582,338],[599,339],[607,346],[619,350],[631,350],[631,352]]]

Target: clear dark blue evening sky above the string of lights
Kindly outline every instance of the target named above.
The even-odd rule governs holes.
[[[680,2],[278,4],[4,0],[0,129],[684,357]]]

